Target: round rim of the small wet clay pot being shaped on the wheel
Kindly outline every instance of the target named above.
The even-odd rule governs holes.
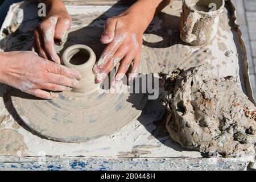
[[[85,63],[79,64],[79,65],[70,63],[72,56],[74,56],[77,52],[74,53],[70,57],[70,59],[68,59],[68,53],[70,53],[71,51],[75,51],[75,50],[78,51],[79,49],[84,49],[85,51],[88,52],[88,54],[89,54],[88,60],[86,60]],[[82,45],[82,44],[75,44],[75,45],[70,46],[67,49],[65,49],[61,58],[62,58],[63,64],[69,68],[82,68],[82,67],[88,67],[92,63],[92,61],[94,61],[93,59],[96,59],[96,56],[93,56],[93,55],[94,55],[94,52],[90,47]]]

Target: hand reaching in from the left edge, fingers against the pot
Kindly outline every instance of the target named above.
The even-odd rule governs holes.
[[[57,97],[47,92],[80,88],[80,73],[39,57],[31,51],[0,53],[0,82],[44,99]]]

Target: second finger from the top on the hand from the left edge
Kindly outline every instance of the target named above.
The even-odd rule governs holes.
[[[72,88],[81,88],[81,82],[77,79],[71,79],[55,73],[47,73],[46,77],[47,82],[51,84],[68,86]]]

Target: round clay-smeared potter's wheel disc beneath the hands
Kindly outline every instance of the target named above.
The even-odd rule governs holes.
[[[61,92],[54,100],[40,100],[15,90],[11,100],[23,122],[40,135],[60,142],[85,142],[133,122],[147,101],[146,94],[98,89]]]

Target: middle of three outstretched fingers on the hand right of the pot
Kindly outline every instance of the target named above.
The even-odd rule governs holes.
[[[113,88],[116,88],[121,83],[122,78],[123,76],[125,76],[125,73],[128,71],[132,60],[133,60],[132,54],[126,55],[124,57],[111,83],[111,86]]]

